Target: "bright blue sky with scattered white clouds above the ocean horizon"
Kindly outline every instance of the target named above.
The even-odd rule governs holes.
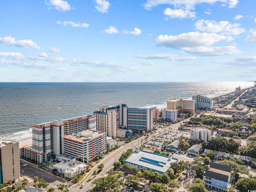
[[[254,81],[255,0],[2,0],[0,82]]]

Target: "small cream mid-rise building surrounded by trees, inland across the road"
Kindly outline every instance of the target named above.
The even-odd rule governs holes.
[[[205,142],[212,138],[212,131],[204,127],[195,127],[190,129],[190,139],[200,139]]]

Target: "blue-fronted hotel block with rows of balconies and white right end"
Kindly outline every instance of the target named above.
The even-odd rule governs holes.
[[[127,128],[137,130],[153,129],[153,109],[128,108],[127,109]]]

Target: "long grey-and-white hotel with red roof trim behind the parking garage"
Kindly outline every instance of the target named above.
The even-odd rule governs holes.
[[[95,129],[95,122],[95,116],[86,115],[32,125],[32,146],[23,147],[20,156],[38,163],[46,162],[50,155],[64,152],[64,134]]]

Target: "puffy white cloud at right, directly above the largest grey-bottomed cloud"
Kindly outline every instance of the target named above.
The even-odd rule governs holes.
[[[228,35],[239,35],[245,30],[243,28],[239,28],[240,24],[234,23],[230,24],[228,21],[220,21],[216,22],[213,20],[198,20],[195,24],[196,30],[206,31],[206,32],[214,32],[220,34],[228,34]]]

